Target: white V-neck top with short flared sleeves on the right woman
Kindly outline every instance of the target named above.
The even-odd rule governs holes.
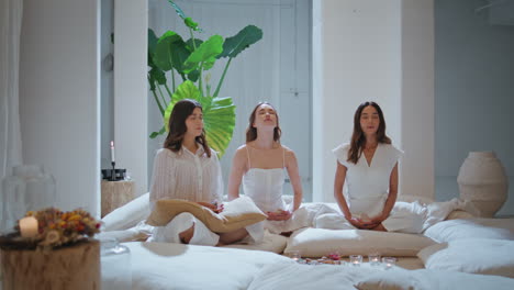
[[[345,196],[348,208],[351,214],[378,215],[388,199],[391,171],[403,152],[391,144],[379,143],[370,165],[364,154],[354,164],[347,161],[349,147],[349,144],[343,144],[333,149],[339,164],[347,168]]]

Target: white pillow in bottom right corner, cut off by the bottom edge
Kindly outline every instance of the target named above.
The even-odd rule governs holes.
[[[388,271],[377,271],[356,285],[359,290],[433,290],[433,289],[466,289],[466,290],[511,290],[514,280],[484,275],[451,272],[439,270],[403,270],[396,268]]]

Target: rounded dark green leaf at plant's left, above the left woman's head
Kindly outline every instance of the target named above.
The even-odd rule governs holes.
[[[172,31],[167,31],[157,42],[154,63],[164,71],[175,68],[179,74],[183,74],[183,63],[190,54],[182,37]]]

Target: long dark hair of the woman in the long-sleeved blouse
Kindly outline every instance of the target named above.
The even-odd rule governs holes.
[[[174,110],[171,111],[168,123],[169,133],[164,143],[165,148],[168,148],[172,152],[180,150],[182,147],[183,136],[188,131],[188,127],[186,126],[186,119],[188,119],[188,116],[193,113],[195,108],[200,108],[200,110],[203,112],[202,105],[199,102],[190,99],[180,100],[174,105]],[[202,130],[202,134],[197,136],[194,141],[202,145],[203,150],[210,158],[211,149],[209,148],[209,144],[205,138],[205,131]]]

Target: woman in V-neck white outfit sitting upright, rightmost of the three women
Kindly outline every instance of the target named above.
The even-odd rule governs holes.
[[[390,214],[398,194],[398,160],[403,153],[386,135],[386,120],[376,102],[357,108],[351,142],[333,152],[337,157],[334,197],[346,222],[361,230],[402,227]]]

